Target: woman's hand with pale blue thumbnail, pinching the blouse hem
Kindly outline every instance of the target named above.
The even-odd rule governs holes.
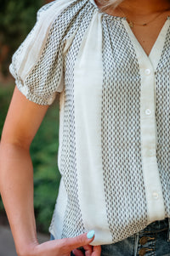
[[[34,244],[27,248],[26,253],[19,253],[19,256],[70,256],[71,251],[76,256],[84,255],[78,247],[83,247],[86,256],[99,256],[101,249],[100,246],[92,247],[89,245],[94,240],[88,238],[87,234],[76,236],[73,238],[64,238],[44,242],[42,244]]]

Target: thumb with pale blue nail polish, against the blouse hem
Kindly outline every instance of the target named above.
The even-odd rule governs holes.
[[[65,253],[71,252],[77,247],[83,247],[85,245],[88,245],[90,242],[93,242],[94,240],[94,230],[91,230],[85,234],[82,234],[80,236],[76,236],[73,238],[64,238],[60,240],[60,245],[63,247],[63,250],[65,250]]]

